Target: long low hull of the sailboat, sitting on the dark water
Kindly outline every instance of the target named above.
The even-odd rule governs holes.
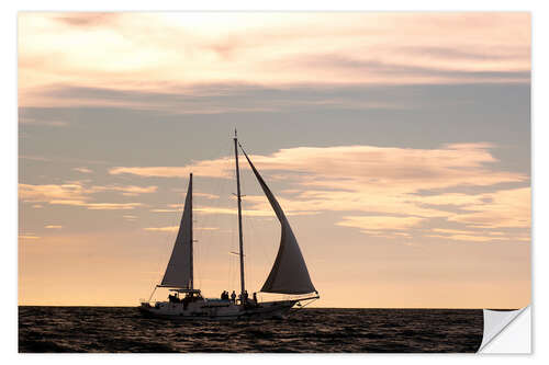
[[[258,305],[242,306],[232,301],[195,301],[187,306],[180,303],[156,303],[150,306],[142,303],[139,311],[146,317],[181,320],[235,320],[282,318],[298,300],[265,301]]]

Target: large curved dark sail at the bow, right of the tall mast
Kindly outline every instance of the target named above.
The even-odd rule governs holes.
[[[290,223],[285,218],[284,212],[282,212],[280,204],[274,198],[274,195],[272,195],[269,186],[267,186],[244,149],[243,152],[282,227],[277,259],[274,260],[274,264],[272,265],[271,272],[261,292],[279,294],[307,294],[316,292],[311,282],[311,276],[309,276],[307,266],[301,254],[298,240],[293,235]]]

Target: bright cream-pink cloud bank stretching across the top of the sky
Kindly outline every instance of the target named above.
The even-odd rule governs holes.
[[[127,104],[123,93],[130,91],[178,95],[220,80],[266,87],[527,83],[530,70],[527,13],[23,13],[19,34],[23,106],[66,99]],[[88,95],[52,93],[59,82]],[[92,94],[104,85],[114,94]],[[192,95],[180,109],[197,109]]]

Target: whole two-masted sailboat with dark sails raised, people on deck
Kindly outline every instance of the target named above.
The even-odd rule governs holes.
[[[280,207],[271,190],[257,171],[248,155],[238,142],[236,129],[234,136],[236,196],[238,212],[238,243],[240,293],[229,297],[224,292],[222,298],[204,298],[200,288],[194,287],[193,275],[193,225],[192,225],[192,173],[189,175],[189,187],[184,199],[183,214],[179,231],[173,244],[168,266],[156,285],[148,300],[143,300],[138,309],[145,316],[177,319],[250,319],[281,318],[293,306],[303,307],[320,298],[309,275],[305,260],[290,223]],[[248,296],[244,277],[244,239],[242,221],[240,173],[238,167],[238,147],[240,147],[251,171],[261,186],[281,226],[280,246],[272,269],[259,292],[284,295],[283,299],[260,301],[256,294]],[[168,288],[169,300],[152,301],[157,288]]]

